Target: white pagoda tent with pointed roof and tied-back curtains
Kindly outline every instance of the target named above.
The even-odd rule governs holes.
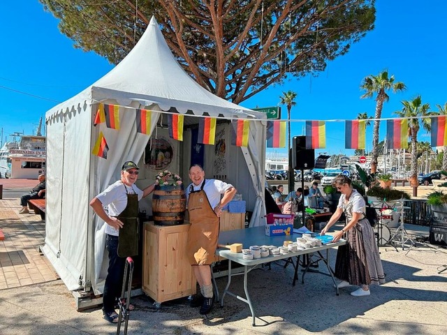
[[[98,103],[119,105],[119,130],[103,124],[93,126]],[[238,165],[232,167],[233,180],[249,200],[247,209],[254,212],[251,225],[265,222],[265,114],[225,101],[200,87],[179,66],[152,18],[138,44],[110,73],[46,113],[43,252],[69,290],[91,287],[96,293],[102,292],[106,268],[104,223],[94,216],[89,200],[119,179],[124,161],[138,162],[142,158],[149,136],[136,132],[135,108],[159,111],[154,112],[157,115],[179,112],[185,114],[185,122],[186,115],[197,121],[205,113],[227,120],[250,119],[248,147],[232,149],[237,154],[231,164]],[[151,131],[156,128],[156,119]],[[91,154],[100,129],[110,147],[107,159]]]

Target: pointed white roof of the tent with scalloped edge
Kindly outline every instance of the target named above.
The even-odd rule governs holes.
[[[170,52],[154,17],[145,34],[115,68],[78,96],[49,110],[47,119],[68,112],[88,98],[98,102],[115,99],[119,105],[130,105],[132,101],[145,106],[156,103],[161,110],[175,107],[180,113],[191,110],[197,115],[207,112],[212,116],[266,118],[263,113],[215,96],[195,82]]]

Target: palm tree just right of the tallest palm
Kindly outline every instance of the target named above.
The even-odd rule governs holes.
[[[427,115],[432,115],[432,112],[428,112],[430,105],[428,103],[422,103],[420,96],[416,96],[412,101],[402,101],[402,111],[397,111],[399,117],[409,119],[408,135],[411,139],[411,177],[410,185],[413,188],[413,196],[417,195],[418,187],[418,149],[416,143],[418,142],[418,131],[420,129],[419,117],[425,117],[420,119],[420,123],[426,131],[430,131],[430,119]],[[415,194],[416,193],[416,194]]]

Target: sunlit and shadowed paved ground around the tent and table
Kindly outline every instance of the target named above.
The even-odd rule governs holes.
[[[0,285],[7,285],[0,288],[0,334],[115,334],[116,326],[102,319],[101,308],[75,311],[71,292],[38,253],[45,223],[38,215],[19,215],[19,208],[17,199],[0,200],[0,228],[6,237],[0,241]],[[427,234],[427,228],[406,228],[414,236]],[[447,270],[441,271],[446,269],[447,249],[418,243],[404,251],[391,246],[380,251],[387,283],[372,287],[370,297],[351,297],[356,288],[341,289],[337,297],[323,265],[318,270],[325,275],[308,273],[305,284],[293,287],[293,269],[273,264],[249,274],[256,327],[251,326],[248,306],[233,297],[202,318],[187,299],[163,303],[157,310],[152,299],[140,296],[133,298],[136,308],[128,334],[445,334]],[[330,253],[332,265],[335,253]],[[29,274],[36,282],[21,281],[20,269],[29,273],[33,268],[43,280]],[[42,271],[48,269],[45,278]],[[8,273],[18,283],[8,280]],[[218,278],[217,285],[222,292],[226,278]],[[233,278],[232,288],[242,295],[242,278]]]

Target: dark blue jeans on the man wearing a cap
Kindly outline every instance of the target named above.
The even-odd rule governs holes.
[[[118,237],[106,234],[105,247],[109,252],[109,267],[105,277],[103,307],[106,313],[115,311],[115,301],[121,295],[126,258],[118,256]]]

